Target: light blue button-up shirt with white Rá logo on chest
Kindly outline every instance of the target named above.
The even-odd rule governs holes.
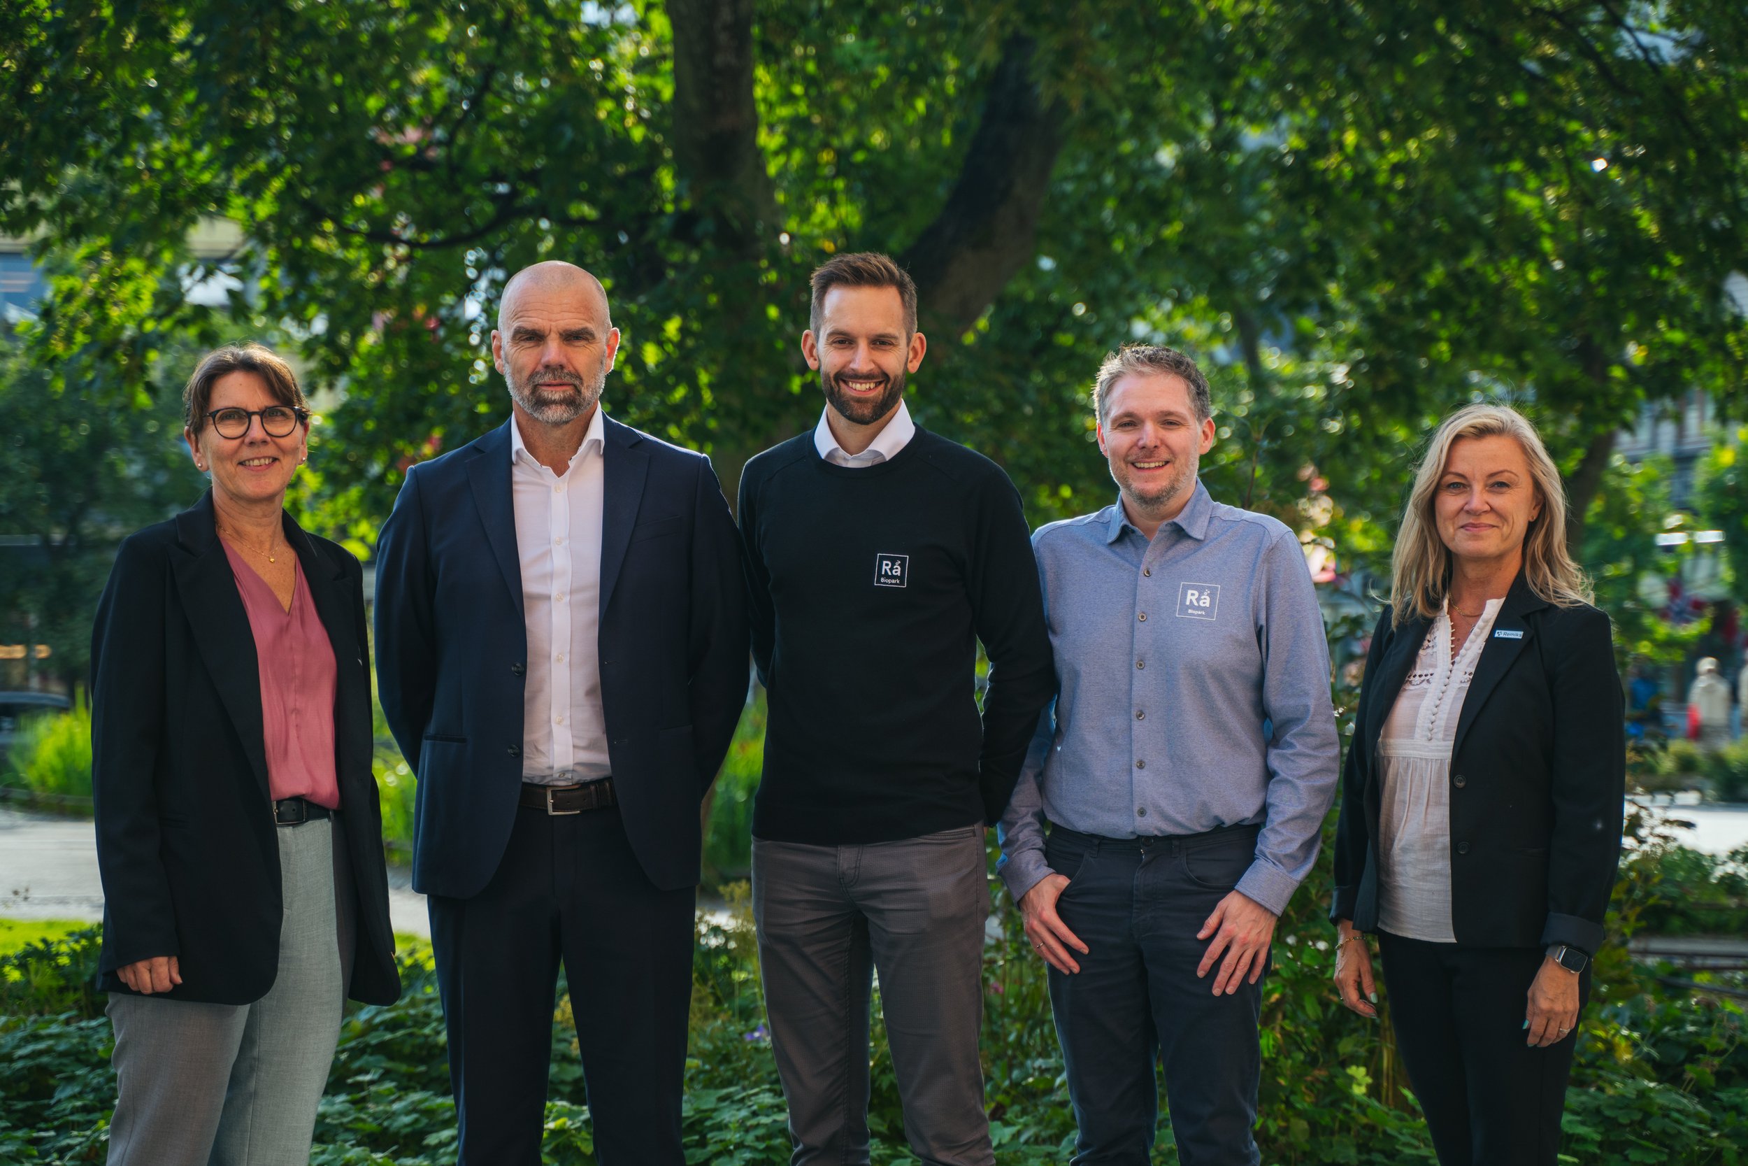
[[[1341,762],[1299,538],[1197,482],[1152,542],[1117,502],[1031,545],[1059,694],[1002,818],[1009,892],[1051,872],[1045,818],[1105,837],[1260,823],[1238,890],[1280,914],[1316,860]]]

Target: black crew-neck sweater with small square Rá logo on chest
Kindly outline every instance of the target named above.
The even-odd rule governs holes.
[[[746,463],[738,509],[769,692],[753,836],[830,846],[996,822],[1056,691],[1002,467],[923,428],[888,462],[841,467],[806,432]]]

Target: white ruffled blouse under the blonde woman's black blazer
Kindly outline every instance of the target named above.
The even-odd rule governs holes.
[[[1377,741],[1383,813],[1377,844],[1377,927],[1454,944],[1451,927],[1451,745],[1475,661],[1503,600],[1488,600],[1461,647],[1449,607],[1421,643]]]

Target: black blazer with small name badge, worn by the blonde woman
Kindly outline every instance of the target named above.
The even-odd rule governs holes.
[[[1432,622],[1390,626],[1365,657],[1335,827],[1332,920],[1377,930],[1377,738]],[[1608,615],[1512,584],[1475,664],[1451,752],[1451,923],[1475,947],[1596,953],[1620,860],[1626,720]]]

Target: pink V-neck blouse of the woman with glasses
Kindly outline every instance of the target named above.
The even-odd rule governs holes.
[[[287,612],[248,559],[231,544],[220,544],[231,559],[231,573],[248,612],[248,628],[255,633],[267,792],[273,801],[306,797],[318,806],[339,809],[339,780],[334,773],[334,645],[309,598],[304,565],[297,563],[292,610]]]

